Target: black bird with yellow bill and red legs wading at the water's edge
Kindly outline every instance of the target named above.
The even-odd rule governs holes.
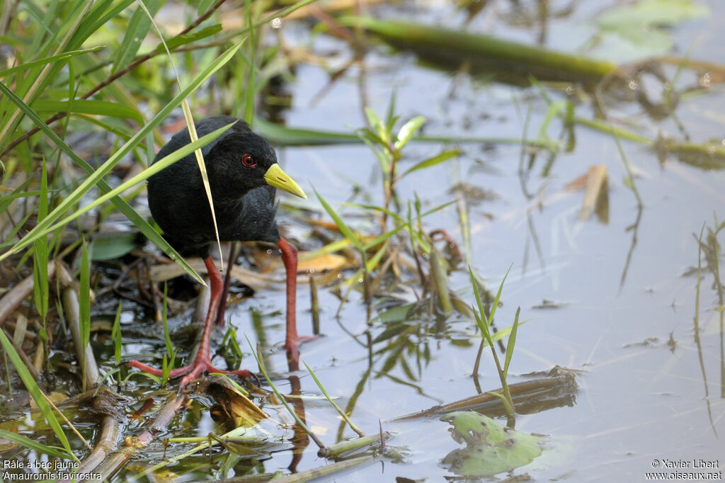
[[[214,210],[221,241],[270,241],[282,251],[286,269],[287,324],[285,348],[291,360],[299,361],[299,336],[295,320],[297,295],[297,249],[279,236],[275,222],[276,189],[307,198],[305,191],[286,175],[277,164],[277,156],[266,139],[249,129],[242,120],[216,116],[196,123],[196,133],[204,136],[230,123],[236,123],[221,136],[202,148]],[[189,144],[188,130],[175,133],[159,151],[154,162]],[[210,336],[218,310],[223,311],[226,300],[220,300],[223,283],[212,258],[210,248],[216,241],[212,212],[202,184],[202,174],[194,153],[149,178],[149,208],[154,220],[164,231],[164,237],[183,255],[198,255],[204,259],[211,285],[211,300],[199,352],[194,363],[174,369],[170,377],[186,376],[182,386],[204,371],[249,375],[249,371],[220,371],[212,366]],[[160,375],[161,371],[132,360],[130,366]]]

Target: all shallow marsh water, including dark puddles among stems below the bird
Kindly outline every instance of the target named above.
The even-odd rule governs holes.
[[[468,28],[527,43],[544,36],[545,46],[572,52],[595,32],[592,19],[605,7],[598,1],[580,1],[568,9],[568,4],[554,2],[548,6],[555,13],[542,26],[533,4],[523,5],[531,14],[527,24],[525,16],[512,13],[515,3],[526,2],[497,2],[474,17]],[[708,6],[710,15],[671,29],[675,50],[688,51],[689,59],[723,63],[725,46],[719,37],[725,5],[715,0],[701,4]],[[384,18],[413,18],[453,27],[465,19],[449,4],[434,2],[384,5],[374,12]],[[289,42],[307,40],[309,25],[284,25],[282,33]],[[600,54],[620,63],[631,59],[627,52],[607,51],[608,46],[611,48],[605,43]],[[330,60],[332,67],[344,65],[349,56],[347,44],[326,36],[315,38],[314,50],[328,60],[332,59],[330,52],[336,53],[337,58]],[[674,75],[673,67],[665,70]],[[394,93],[402,120],[425,116],[424,133],[429,136],[533,139],[547,114],[547,103],[533,88],[432,70],[418,65],[413,54],[376,46],[365,57],[364,70],[356,65],[328,88],[326,70],[299,65],[296,82],[286,86],[292,99],[291,108],[283,111],[286,124],[348,132],[362,127],[361,75],[373,110],[383,115]],[[692,81],[692,77],[683,78],[682,83]],[[555,99],[564,98],[563,89],[547,92]],[[724,101],[722,86],[716,83],[709,91],[682,101],[676,114],[693,142],[722,141]],[[618,125],[642,136],[654,139],[662,132],[682,139],[672,117],[652,120],[634,102],[606,105]],[[591,99],[578,102],[575,112],[591,118]],[[561,123],[554,121],[547,134],[559,139],[562,129]],[[461,149],[455,162],[404,178],[397,185],[397,196],[405,203],[417,195],[423,207],[430,209],[455,200],[451,189],[461,181],[474,191],[490,194],[486,199],[467,199],[471,228],[468,256],[494,292],[510,268],[496,314],[497,328],[505,329],[521,307],[522,324],[509,381],[526,381],[530,379],[527,374],[547,372],[555,366],[576,374],[579,389],[573,402],[515,418],[518,431],[546,434],[550,447],[528,466],[498,477],[523,478],[529,474],[539,481],[645,481],[647,472],[680,461],[687,463],[677,470],[681,475],[684,471],[719,471],[718,467],[693,468],[696,463],[703,466],[700,460],[713,466],[725,464],[721,439],[725,435],[723,311],[718,308],[721,302],[713,274],[705,256],[698,253],[697,236],[703,226],[706,233],[707,228],[714,228],[716,219],[721,223],[724,214],[718,210],[725,205],[725,190],[721,188],[725,174],[686,164],[674,155],[662,162],[658,154],[641,144],[623,140],[642,199],[642,207],[638,207],[633,191],[623,181],[626,168],[613,137],[582,125],[576,125],[573,132],[576,138],[571,152],[562,149],[549,157],[541,151],[533,162],[518,144],[412,142],[400,165],[405,170],[444,149]],[[357,216],[359,210],[341,205],[350,199],[378,205],[383,202],[378,162],[367,146],[279,148],[278,157],[286,173],[308,194],[314,186],[351,226],[365,232],[376,229],[373,220]],[[531,167],[522,174],[521,166],[529,162]],[[579,220],[584,191],[568,189],[568,185],[593,165],[605,165],[608,170],[608,212]],[[359,190],[357,194],[354,188]],[[313,197],[306,205],[323,212]],[[326,215],[322,218],[328,220]],[[288,212],[282,213],[281,224],[303,249],[320,246],[311,241],[310,227]],[[465,246],[455,204],[425,218],[424,228],[443,228],[462,249]],[[699,294],[698,260],[702,277]],[[449,284],[465,302],[474,302],[465,264],[450,274]],[[352,292],[339,317],[339,297],[324,284],[319,297],[324,337],[303,344],[302,360],[366,434],[377,434],[378,425],[392,433],[388,445],[399,453],[399,458],[388,455],[345,474],[328,476],[328,481],[442,481],[454,477],[442,463],[448,453],[461,447],[451,439],[449,424],[437,417],[394,418],[500,387],[487,349],[479,377],[472,376],[480,341],[476,324],[462,316],[436,323],[423,314],[396,326],[399,332],[386,339],[386,329],[392,329],[376,323],[370,328],[370,339],[381,340],[373,344],[370,355],[365,347],[368,323],[362,294]],[[413,292],[407,294],[407,300],[415,300]],[[109,313],[115,313],[116,304],[109,305]],[[256,366],[246,335],[252,343],[259,341],[266,348],[267,366],[275,373],[281,392],[297,389],[305,396],[302,407],[307,424],[326,445],[352,438],[355,434],[341,423],[328,402],[319,398],[320,390],[311,376],[306,371],[287,373],[280,349],[283,307],[281,290],[262,289],[230,308],[228,315],[245,352],[243,365]],[[128,342],[124,355],[150,360],[165,348],[162,342],[156,343],[158,330],[136,327],[141,313],[143,310],[136,307],[136,312],[128,311],[121,319],[125,330],[143,331],[124,334]],[[190,317],[187,311],[174,318],[171,328],[187,323]],[[310,334],[307,284],[299,284],[297,318],[300,333]],[[221,334],[215,337],[220,340]],[[96,339],[95,343],[96,357],[104,370],[114,368],[112,343],[108,339]],[[181,344],[181,349],[186,350],[186,344]],[[126,389],[138,398],[134,405],[138,408],[157,386],[136,378]],[[154,393],[157,403],[161,395]],[[210,432],[222,432],[205,410],[210,404],[205,397],[194,396],[164,436],[206,437]],[[297,438],[292,450],[290,441],[299,435],[281,405],[265,402],[263,408],[271,418],[260,426],[284,438],[278,445],[264,448],[271,452],[269,455],[246,458],[225,472],[220,470],[223,458],[219,457],[225,453],[215,453],[213,461],[196,455],[169,466],[170,471],[182,474],[176,481],[275,471],[286,474],[326,464],[317,455],[318,448],[304,436]],[[124,434],[140,430],[144,418],[157,409],[155,405],[144,417],[125,421]],[[505,418],[499,421],[507,422]],[[90,426],[86,431],[91,432]],[[173,446],[170,453],[181,447]],[[141,454],[141,463],[128,466],[117,480],[142,471],[146,463],[162,461],[164,452],[161,443],[154,442]],[[675,470],[664,471],[672,475]]]

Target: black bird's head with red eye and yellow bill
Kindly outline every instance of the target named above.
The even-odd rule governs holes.
[[[236,126],[235,126],[236,127]],[[246,125],[228,131],[204,156],[210,160],[210,178],[217,178],[223,196],[239,199],[252,189],[270,185],[307,199],[305,191],[277,163],[274,149]]]

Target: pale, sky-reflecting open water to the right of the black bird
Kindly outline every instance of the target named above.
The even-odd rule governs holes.
[[[567,37],[586,31],[584,21],[599,6],[597,2],[577,2],[571,15],[550,22],[547,45],[566,49]],[[508,7],[506,4],[501,8]],[[692,49],[690,58],[722,62],[723,46],[715,38],[720,28],[717,19],[723,18],[725,7],[717,2],[709,2],[708,7],[709,17],[685,22],[674,29],[673,35],[679,51]],[[454,20],[445,22],[456,25]],[[534,37],[526,30],[500,23],[486,31],[527,41]],[[339,44],[325,40],[317,44],[320,49],[335,45]],[[310,106],[311,96],[325,85],[327,76],[318,67],[300,67],[297,83],[291,87],[294,104],[285,114],[288,125],[335,130],[363,125],[357,102],[357,75],[351,70]],[[415,65],[410,54],[368,56],[366,86],[371,106],[381,113],[394,89],[397,111],[404,119],[426,116],[426,133],[431,135],[520,137],[523,116],[531,107],[531,137],[546,111],[542,99],[531,90],[427,70]],[[715,86],[705,96],[679,107],[679,120],[693,141],[722,139],[724,100],[721,86]],[[577,112],[591,115],[586,105],[577,107]],[[632,112],[626,120],[639,125],[636,130],[646,136],[655,136],[658,130],[679,136],[670,119],[654,122],[632,105],[613,106],[613,112]],[[686,461],[690,471],[697,471],[693,464],[700,458],[722,466],[722,313],[716,310],[713,276],[705,271],[696,312],[697,274],[693,268],[698,263],[696,237],[703,226],[714,226],[713,217],[723,217],[724,173],[695,168],[674,156],[660,164],[655,153],[622,141],[644,205],[639,212],[637,199],[622,182],[626,170],[612,137],[581,126],[575,133],[572,152],[560,152],[545,176],[542,171],[547,160],[539,156],[523,182],[518,174],[518,146],[482,149],[477,144],[460,144],[463,154],[457,160],[460,178],[493,190],[498,197],[469,205],[471,260],[489,282],[489,288],[497,287],[512,266],[497,313],[497,323],[505,327],[513,322],[516,307],[521,306],[521,318],[526,321],[518,331],[512,380],[556,365],[581,371],[577,375],[580,387],[576,404],[516,419],[516,429],[548,434],[554,441],[568,443],[569,451],[553,458],[558,460],[555,463],[535,461],[514,473],[527,472],[542,481],[644,481],[645,472],[657,469],[665,460]],[[550,136],[558,135],[555,123]],[[409,154],[418,160],[439,149],[442,147],[414,144]],[[282,149],[281,159],[291,176],[309,178],[329,202],[339,204],[349,197],[350,184],[343,176],[360,183],[366,197],[381,202],[376,162],[364,146]],[[577,217],[583,192],[566,191],[565,186],[597,164],[606,165],[609,173],[608,220],[592,215],[580,221]],[[412,199],[417,193],[425,205],[432,207],[452,199],[449,190],[455,183],[452,167],[439,165],[411,175],[399,185],[398,194],[402,199]],[[522,183],[537,196],[526,197]],[[307,188],[305,182],[302,184]],[[426,227],[444,228],[460,242],[455,205],[428,218]],[[704,268],[704,260],[702,263]],[[465,271],[454,273],[451,285],[464,300],[473,302]],[[454,332],[473,334],[474,325],[454,321],[448,329],[449,337],[410,338],[412,347],[420,351],[405,352],[415,380],[406,376],[399,364],[384,371],[386,353],[373,357],[372,371],[368,373],[367,350],[339,326],[353,334],[365,331],[360,297],[344,306],[339,321],[334,318],[337,299],[325,291],[320,297],[326,337],[303,346],[303,359],[315,369],[328,392],[341,398],[343,407],[360,391],[350,415],[356,424],[366,432],[376,432],[378,420],[383,421],[384,430],[397,433],[390,444],[407,448],[403,463],[375,463],[341,476],[339,481],[393,481],[397,476],[440,481],[451,476],[439,463],[457,447],[447,433],[447,424],[436,419],[385,421],[476,394],[471,378],[478,350],[476,339],[465,345],[450,337]],[[309,307],[306,289],[301,290],[299,300],[300,325],[304,327],[304,311]],[[557,305],[537,308],[544,300]],[[253,303],[269,310],[280,306],[281,299],[271,293],[260,294]],[[244,330],[249,323],[246,308],[239,307],[235,314],[234,323]],[[695,342],[694,318],[699,322],[700,345]],[[276,321],[280,327],[281,317]],[[374,329],[373,337],[380,331]],[[267,337],[281,340],[283,333],[278,329]],[[430,357],[418,358],[424,348]],[[278,360],[282,370],[281,355]],[[482,371],[484,390],[500,386],[490,354],[485,354]],[[300,377],[303,392],[318,393],[309,376],[301,373]],[[320,426],[328,428],[322,437],[334,442],[337,431],[330,429],[334,413],[325,405],[311,405],[307,406],[307,418],[312,424],[319,421]],[[345,434],[352,436],[349,431]],[[315,452],[312,445],[307,447],[297,470],[318,466],[320,460]],[[287,465],[289,455],[281,453],[265,463],[265,470],[275,471]]]

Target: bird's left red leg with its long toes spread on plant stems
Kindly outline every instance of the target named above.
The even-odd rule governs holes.
[[[169,374],[170,377],[176,377],[186,374],[186,376],[181,379],[181,387],[186,386],[186,384],[201,376],[204,371],[221,372],[225,374],[237,374],[239,376],[245,377],[250,376],[249,371],[222,371],[212,366],[212,360],[210,358],[210,339],[212,336],[212,328],[214,327],[214,319],[216,318],[217,310],[219,308],[223,283],[222,278],[219,275],[219,271],[214,265],[212,257],[204,258],[204,265],[207,265],[207,272],[209,273],[212,296],[209,302],[207,319],[206,321],[204,321],[204,332],[202,332],[202,342],[199,344],[199,352],[196,352],[196,358],[194,359],[194,363],[191,363],[188,366],[174,369]],[[141,369],[141,371],[152,373],[155,376],[162,375],[162,371],[159,371],[159,369],[146,366],[146,364],[142,364],[138,362],[138,360],[131,360],[128,365]]]

